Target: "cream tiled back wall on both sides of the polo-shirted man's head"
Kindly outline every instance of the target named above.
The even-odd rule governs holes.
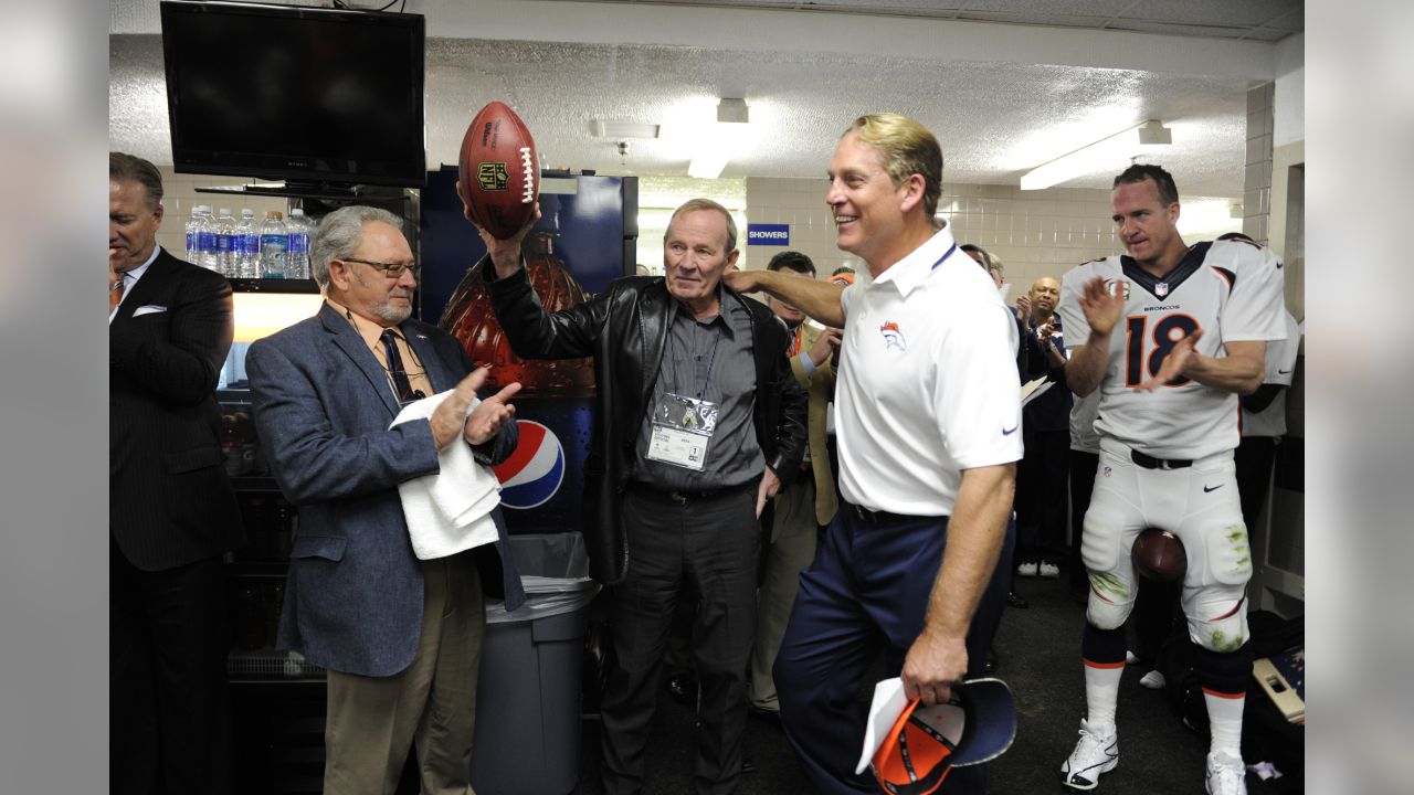
[[[834,245],[834,224],[824,204],[823,180],[747,180],[747,219],[789,224],[790,248],[814,260],[820,274],[840,265],[863,263]],[[1072,266],[1120,252],[1110,221],[1110,191],[1049,188],[1021,191],[1008,185],[943,185],[939,214],[960,243],[976,243],[1000,256],[1011,293],[1042,276],[1059,277]],[[765,267],[776,246],[747,246],[745,267]]]

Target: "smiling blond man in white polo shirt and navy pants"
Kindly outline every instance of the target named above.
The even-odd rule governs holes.
[[[878,791],[854,761],[857,695],[881,648],[906,696],[946,702],[952,685],[981,671],[995,627],[981,611],[1005,597],[993,573],[1021,458],[1017,327],[952,231],[933,226],[942,166],[918,122],[857,119],[830,160],[826,202],[839,246],[872,282],[841,291],[759,270],[727,276],[844,327],[843,499],[800,576],[775,665],[786,734],[827,795]],[[956,768],[940,791],[984,787],[981,770]]]

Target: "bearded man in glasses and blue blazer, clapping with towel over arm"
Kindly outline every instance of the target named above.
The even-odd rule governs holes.
[[[482,465],[510,455],[520,385],[472,409],[486,371],[411,320],[417,265],[393,214],[331,212],[311,255],[320,313],[246,356],[256,427],[300,512],[277,645],[328,669],[325,792],[392,795],[416,740],[421,791],[469,794],[482,588],[508,610],[525,594],[499,512],[492,543],[420,560],[399,485],[443,472],[451,446]],[[392,424],[445,390],[430,419]]]

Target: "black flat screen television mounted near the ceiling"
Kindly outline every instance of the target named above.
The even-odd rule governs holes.
[[[161,3],[178,173],[420,187],[426,20]]]

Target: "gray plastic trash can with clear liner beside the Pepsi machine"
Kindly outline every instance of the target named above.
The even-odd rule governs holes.
[[[566,795],[578,784],[580,671],[600,591],[580,533],[510,536],[526,604],[486,600],[471,785],[485,795]]]

